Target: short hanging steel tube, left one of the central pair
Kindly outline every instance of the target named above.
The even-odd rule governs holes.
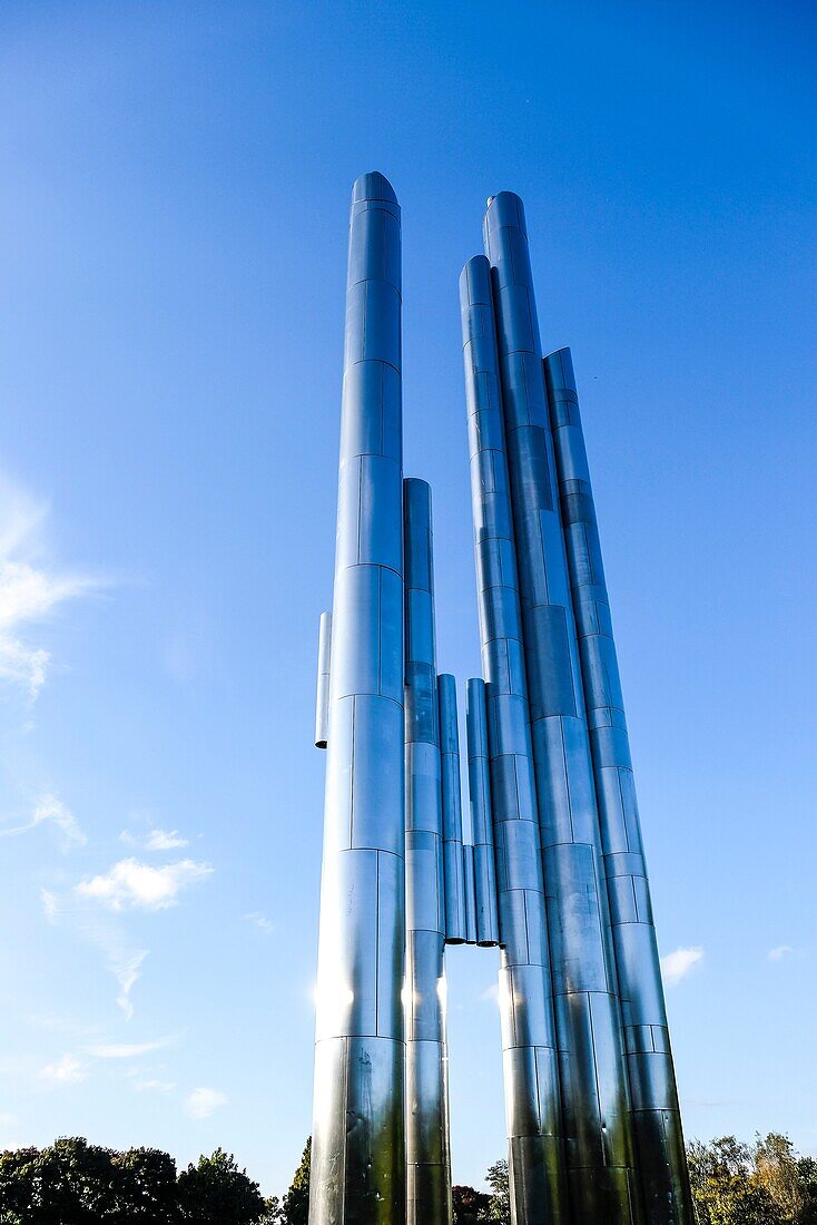
[[[459,723],[457,682],[448,673],[437,676],[440,751],[442,755],[442,862],[446,893],[446,940],[465,942],[463,883],[462,784],[459,778]]]

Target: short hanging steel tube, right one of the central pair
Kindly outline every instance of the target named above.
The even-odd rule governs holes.
[[[476,943],[499,944],[500,924],[496,909],[496,862],[491,816],[491,780],[488,766],[488,715],[485,681],[475,676],[465,687],[468,726],[468,799],[474,844],[474,909]]]

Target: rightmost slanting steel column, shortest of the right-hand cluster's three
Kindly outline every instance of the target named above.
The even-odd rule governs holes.
[[[619,662],[570,349],[549,354],[544,371],[590,726],[639,1180],[650,1225],[693,1225]]]

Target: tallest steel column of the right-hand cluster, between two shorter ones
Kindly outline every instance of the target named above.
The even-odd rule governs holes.
[[[637,1219],[615,959],[522,201],[489,201],[511,502],[576,1223]]]

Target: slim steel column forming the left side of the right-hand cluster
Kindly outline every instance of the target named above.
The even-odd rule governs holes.
[[[514,1225],[566,1225],[539,812],[490,268],[459,278],[474,548],[499,898],[500,1014]]]

